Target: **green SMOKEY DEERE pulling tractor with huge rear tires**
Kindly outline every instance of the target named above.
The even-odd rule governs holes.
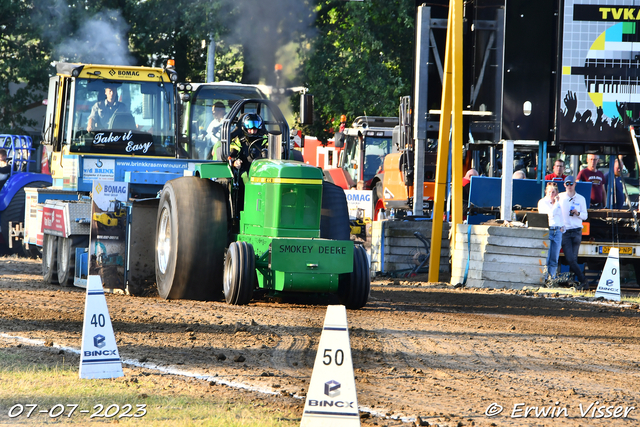
[[[243,114],[259,114],[268,149],[246,176],[228,161],[198,164],[168,181],[156,224],[161,297],[242,305],[254,291],[335,293],[361,308],[370,289],[367,254],[349,240],[344,192],[322,170],[290,158],[289,127],[271,101],[238,101],[222,125],[227,159]]]

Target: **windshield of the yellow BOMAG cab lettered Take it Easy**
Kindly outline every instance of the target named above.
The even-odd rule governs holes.
[[[76,79],[71,152],[175,157],[173,85]]]

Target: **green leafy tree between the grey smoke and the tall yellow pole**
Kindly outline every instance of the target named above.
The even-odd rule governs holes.
[[[326,141],[341,114],[397,116],[412,85],[414,2],[319,0],[316,12],[319,33],[301,52],[317,116],[305,132]]]

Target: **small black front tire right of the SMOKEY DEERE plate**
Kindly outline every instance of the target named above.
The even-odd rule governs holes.
[[[353,272],[341,276],[338,297],[345,307],[358,309],[367,303],[370,289],[371,279],[367,252],[362,246],[356,245],[353,248]]]

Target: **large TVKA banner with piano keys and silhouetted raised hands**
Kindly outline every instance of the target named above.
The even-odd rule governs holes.
[[[640,7],[634,3],[565,0],[558,142],[630,142],[629,119],[640,113]]]

